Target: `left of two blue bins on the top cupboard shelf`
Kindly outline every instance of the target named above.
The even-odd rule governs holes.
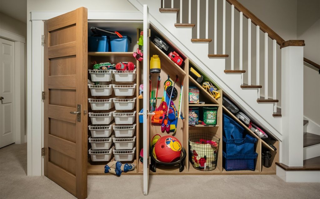
[[[88,52],[109,52],[108,36],[88,37]]]

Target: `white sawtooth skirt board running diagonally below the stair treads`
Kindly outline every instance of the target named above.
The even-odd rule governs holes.
[[[240,88],[241,74],[226,74],[225,59],[210,59],[208,57],[207,43],[192,43],[192,29],[180,29],[174,27],[176,16],[170,13],[160,13],[160,1],[128,0],[139,11],[143,4],[148,4],[150,23],[166,36],[172,43],[181,50],[191,62],[195,63],[203,73],[215,81],[228,96],[233,97],[242,109],[251,113],[251,116],[258,121],[259,125],[268,129],[278,140],[282,140],[281,118],[275,118],[273,104],[257,103],[257,92],[255,90],[244,90]],[[212,67],[214,65],[214,67]],[[239,107],[239,108],[240,108]]]

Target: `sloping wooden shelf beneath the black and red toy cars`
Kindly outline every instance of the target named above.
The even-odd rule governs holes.
[[[160,61],[161,61],[161,65],[163,64],[169,64],[169,65],[172,65],[172,67],[170,69],[172,69],[172,72],[174,72],[175,74],[177,74],[178,76],[180,76],[181,78],[181,75],[182,76],[185,76],[187,73],[181,68],[181,66],[177,65],[176,63],[174,63],[171,58],[166,55],[162,50],[160,50],[156,44],[154,44],[153,42],[150,41],[150,57],[152,56],[152,53],[151,51],[156,51],[157,54],[159,55],[159,58],[160,58]],[[169,67],[167,65],[167,67]],[[173,78],[174,79],[174,78]],[[182,78],[181,78],[182,79]]]

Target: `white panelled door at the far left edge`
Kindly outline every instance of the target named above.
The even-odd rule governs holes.
[[[14,132],[14,42],[0,38],[0,148],[12,144]]]

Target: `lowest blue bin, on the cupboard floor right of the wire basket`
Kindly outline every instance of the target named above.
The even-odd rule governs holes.
[[[226,171],[236,170],[252,170],[254,171],[255,159],[258,157],[258,153],[253,155],[227,155],[222,151],[222,165]]]

